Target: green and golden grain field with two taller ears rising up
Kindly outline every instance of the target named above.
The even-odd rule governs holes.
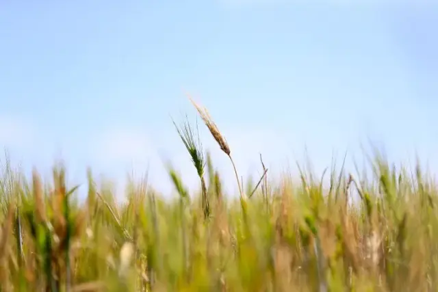
[[[305,168],[274,183],[260,157],[263,176],[252,185],[227,133],[192,103],[211,133],[175,122],[199,178],[194,194],[170,165],[178,197],[145,179],[129,184],[123,203],[91,170],[80,202],[62,165],[51,181],[3,165],[1,292],[437,290],[438,190],[420,163],[396,168],[375,152],[372,174],[328,165],[325,187]],[[226,182],[239,186],[233,198],[202,148],[211,138],[235,174]]]

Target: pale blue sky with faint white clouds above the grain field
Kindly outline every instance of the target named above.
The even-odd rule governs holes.
[[[196,172],[172,118],[209,110],[244,178],[272,177],[305,151],[415,153],[438,170],[438,2],[433,0],[94,0],[0,3],[0,146],[49,177],[86,168],[172,193],[164,161],[188,187]],[[198,119],[229,191],[227,157]],[[4,159],[3,159],[4,161]]]

